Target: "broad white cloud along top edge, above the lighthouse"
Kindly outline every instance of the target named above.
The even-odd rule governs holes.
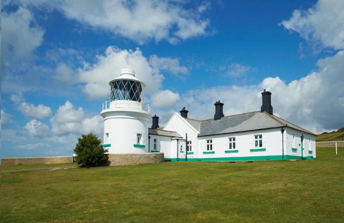
[[[143,44],[166,39],[176,43],[207,34],[209,20],[203,18],[210,3],[195,8],[175,1],[156,0],[18,0],[24,6],[42,6],[61,11],[66,18],[86,27],[106,30]]]

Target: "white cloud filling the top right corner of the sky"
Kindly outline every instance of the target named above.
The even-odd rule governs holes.
[[[344,49],[344,1],[319,0],[308,10],[296,9],[283,25],[313,44],[335,50]]]

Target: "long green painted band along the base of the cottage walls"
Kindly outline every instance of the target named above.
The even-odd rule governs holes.
[[[177,161],[177,158],[165,158],[171,161]],[[178,158],[179,161],[185,161],[185,158]],[[284,155],[284,160],[301,159],[301,156]],[[315,159],[309,156],[308,159]],[[282,160],[282,155],[272,156],[244,156],[244,157],[217,157],[217,158],[188,158],[188,161],[263,161],[263,160]]]

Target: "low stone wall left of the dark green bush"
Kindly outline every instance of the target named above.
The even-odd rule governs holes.
[[[72,156],[52,156],[52,157],[3,157],[1,165],[31,165],[31,164],[60,164],[72,163]]]

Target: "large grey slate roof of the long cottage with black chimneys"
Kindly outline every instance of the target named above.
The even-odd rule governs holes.
[[[283,126],[288,126],[299,131],[315,135],[314,133],[295,124],[291,124],[277,116],[260,111],[225,116],[220,120],[208,119],[198,121],[188,118],[185,118],[185,120],[200,132],[199,136],[244,132]]]

